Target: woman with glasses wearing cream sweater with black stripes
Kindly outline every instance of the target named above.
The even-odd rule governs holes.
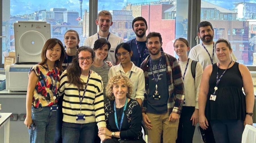
[[[90,70],[94,51],[82,46],[77,58],[61,75],[60,95],[64,94],[62,112],[62,142],[94,142],[96,122],[106,127],[103,103],[103,82]]]

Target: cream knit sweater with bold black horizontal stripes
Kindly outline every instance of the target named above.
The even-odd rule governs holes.
[[[88,76],[81,75],[80,78],[87,82]],[[85,115],[85,120],[77,121],[76,115],[80,113],[79,93],[75,85],[68,83],[67,70],[65,70],[60,77],[59,87],[59,96],[64,94],[62,103],[63,121],[78,124],[97,122],[98,127],[106,127],[102,85],[101,77],[92,71],[82,100],[81,113]],[[81,99],[83,93],[84,89],[80,89]]]

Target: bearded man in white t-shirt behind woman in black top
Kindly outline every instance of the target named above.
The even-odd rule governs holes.
[[[202,21],[198,24],[197,31],[202,43],[190,50],[189,58],[201,63],[204,70],[207,65],[219,62],[214,49],[214,30],[210,22]],[[237,60],[233,53],[231,56],[233,60]]]

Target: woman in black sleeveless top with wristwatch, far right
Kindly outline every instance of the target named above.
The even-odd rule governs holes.
[[[218,63],[205,68],[198,98],[199,124],[211,123],[216,142],[241,142],[246,124],[252,125],[254,91],[245,65],[231,60],[232,49],[226,39],[215,43]],[[244,95],[242,91],[244,88]]]

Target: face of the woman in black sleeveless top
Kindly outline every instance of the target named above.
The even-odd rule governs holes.
[[[220,42],[216,44],[216,55],[219,61],[228,61],[231,60],[232,49],[225,42]]]

